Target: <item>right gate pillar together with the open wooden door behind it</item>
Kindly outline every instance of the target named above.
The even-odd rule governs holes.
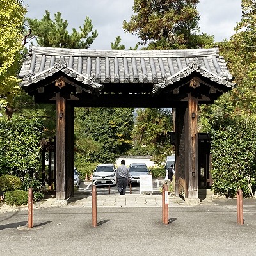
[[[198,99],[188,94],[188,105],[176,108],[175,195],[198,204]]]

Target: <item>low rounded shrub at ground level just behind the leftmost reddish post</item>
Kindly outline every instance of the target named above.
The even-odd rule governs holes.
[[[4,194],[4,203],[8,205],[28,205],[28,192],[24,190],[7,191]]]

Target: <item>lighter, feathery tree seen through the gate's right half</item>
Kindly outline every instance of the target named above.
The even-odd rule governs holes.
[[[137,109],[132,137],[134,150],[140,147],[143,152],[154,156],[154,161],[161,163],[173,151],[167,132],[172,131],[172,115],[168,109]]]

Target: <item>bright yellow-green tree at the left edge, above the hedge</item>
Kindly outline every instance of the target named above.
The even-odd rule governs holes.
[[[22,24],[26,9],[22,1],[1,0],[0,8],[0,107],[6,108],[19,92]]]

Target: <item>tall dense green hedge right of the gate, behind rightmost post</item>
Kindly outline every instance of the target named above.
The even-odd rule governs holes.
[[[234,120],[235,121],[235,120]],[[212,131],[212,189],[232,198],[237,189],[253,196],[255,189],[256,119],[237,117],[234,124]]]

